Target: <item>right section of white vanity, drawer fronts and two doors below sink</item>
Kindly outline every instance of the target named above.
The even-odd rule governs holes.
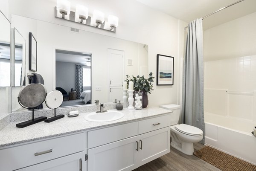
[[[123,125],[89,131],[87,133],[88,145],[93,137],[97,137],[98,142],[102,142],[102,144],[109,142],[107,136],[101,139],[101,135],[109,135],[112,142],[105,145],[98,144],[93,148],[88,146],[88,171],[131,171],[169,153],[170,121],[171,116],[165,115],[139,122],[131,122],[126,124],[125,128],[118,129],[119,131],[117,132],[119,133],[117,135],[113,135],[110,129],[122,127]],[[144,124],[146,129],[143,126]],[[140,130],[141,128],[143,130]],[[134,129],[136,129],[137,135],[124,138],[124,135],[129,130]],[[102,134],[99,134],[99,132]],[[122,139],[119,139],[120,135],[122,135]],[[113,142],[113,137],[116,137],[115,142]]]

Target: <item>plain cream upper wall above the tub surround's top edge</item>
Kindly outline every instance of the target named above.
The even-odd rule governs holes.
[[[256,12],[204,30],[204,61],[256,55]]]

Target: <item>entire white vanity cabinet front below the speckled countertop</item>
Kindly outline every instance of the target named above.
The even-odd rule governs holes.
[[[0,171],[131,171],[170,152],[171,114],[0,148]]]

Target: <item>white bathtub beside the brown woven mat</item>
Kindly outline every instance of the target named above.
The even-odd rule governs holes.
[[[256,165],[255,122],[204,113],[205,144]]]

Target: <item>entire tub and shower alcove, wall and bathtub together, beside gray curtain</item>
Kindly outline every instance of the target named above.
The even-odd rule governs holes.
[[[204,31],[205,143],[256,164],[256,13]]]

